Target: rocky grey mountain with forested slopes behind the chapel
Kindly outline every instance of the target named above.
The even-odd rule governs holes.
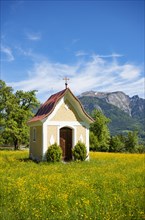
[[[109,93],[88,91],[78,98],[89,114],[94,109],[100,109],[111,119],[109,128],[112,135],[138,130],[139,136],[145,138],[145,99],[137,95],[129,97],[120,91]]]

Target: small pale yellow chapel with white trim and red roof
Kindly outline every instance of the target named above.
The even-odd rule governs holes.
[[[28,122],[30,126],[30,158],[46,159],[50,145],[62,148],[63,160],[72,160],[72,149],[81,141],[89,159],[89,126],[93,119],[85,112],[69,88],[53,94]]]

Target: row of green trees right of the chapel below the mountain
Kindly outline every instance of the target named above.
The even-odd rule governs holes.
[[[94,123],[90,126],[90,150],[101,152],[145,152],[145,145],[138,142],[137,131],[111,136],[108,128],[110,119],[99,110],[93,111],[92,117],[94,118]]]

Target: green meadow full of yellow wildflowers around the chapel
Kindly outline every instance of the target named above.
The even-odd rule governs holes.
[[[144,155],[90,157],[36,164],[27,151],[0,151],[0,219],[145,219]]]

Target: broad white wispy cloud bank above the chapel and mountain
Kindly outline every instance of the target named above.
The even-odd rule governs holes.
[[[52,92],[64,88],[63,78],[70,78],[69,87],[74,94],[84,91],[123,91],[133,96],[143,97],[144,77],[142,67],[130,63],[121,64],[93,54],[87,61],[76,62],[73,65],[64,63],[40,61],[34,64],[28,72],[28,79],[11,82],[15,89],[37,89],[39,98],[44,101]]]

